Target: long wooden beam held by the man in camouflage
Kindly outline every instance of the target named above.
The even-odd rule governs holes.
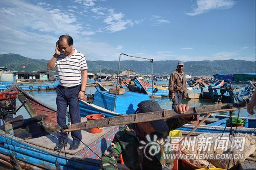
[[[205,115],[207,113],[213,112],[222,112],[222,111],[231,111],[242,109],[246,106],[246,101],[242,101],[241,103],[236,104],[214,104],[208,106],[201,106],[201,107],[191,107],[186,114],[179,114],[174,110],[163,110],[157,112],[147,112],[147,113],[140,113],[140,114],[132,114],[132,115],[121,115],[111,118],[102,118],[102,119],[95,119],[91,121],[81,122],[77,124],[71,124],[66,129],[62,129],[58,124],[56,125],[56,130],[58,132],[68,132],[73,130],[84,130],[90,129],[95,127],[109,127],[121,124],[134,124],[139,122],[145,121],[156,121],[156,120],[163,120],[169,118],[181,118],[184,116],[192,116],[192,115]]]

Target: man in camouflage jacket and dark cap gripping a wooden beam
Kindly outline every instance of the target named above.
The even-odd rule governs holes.
[[[143,112],[154,112],[160,111],[161,108],[159,104],[155,101],[142,101],[138,104],[139,108],[145,104],[146,109],[137,110],[138,113]],[[176,106],[176,110],[180,114],[184,114],[189,110],[189,105],[180,104]],[[178,127],[181,127],[183,124],[186,124],[188,121],[194,120],[194,117],[186,118],[175,118],[168,120],[159,120],[151,122],[142,122],[137,124],[129,124],[122,130],[116,133],[113,141],[111,142],[108,149],[102,155],[102,169],[104,170],[113,170],[117,169],[117,161],[119,154],[122,153],[122,158],[125,165],[129,169],[133,170],[171,170],[173,167],[173,160],[165,158],[166,154],[170,154],[170,151],[164,150],[163,142],[159,143],[160,152],[155,156],[148,159],[145,154],[148,153],[148,150],[143,152],[139,147],[143,145],[140,144],[140,141],[146,141],[146,135],[150,135],[153,139],[154,135],[157,135],[157,138],[167,137],[169,130],[175,130]],[[157,142],[159,142],[157,140]]]

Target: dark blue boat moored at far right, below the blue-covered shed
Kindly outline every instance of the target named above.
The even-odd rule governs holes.
[[[252,90],[250,86],[246,85],[243,89],[236,92],[235,88],[222,87],[212,88],[209,87],[211,98],[215,102],[221,101],[222,103],[237,103],[243,101],[242,98],[250,99]]]

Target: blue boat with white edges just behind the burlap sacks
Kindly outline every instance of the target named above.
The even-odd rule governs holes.
[[[236,117],[236,116],[232,116]],[[230,133],[230,127],[226,127],[228,115],[215,115],[212,114],[206,121],[205,125],[201,125],[195,130],[195,135],[200,133]],[[237,133],[248,133],[252,135],[256,135],[256,118],[245,118],[240,117],[245,121],[243,127],[237,128]],[[201,117],[201,120],[203,117]],[[190,132],[194,129],[196,125],[193,124],[185,124],[182,127],[178,128],[182,130],[183,133]],[[226,128],[225,128],[226,127]],[[233,127],[235,129],[235,127]]]

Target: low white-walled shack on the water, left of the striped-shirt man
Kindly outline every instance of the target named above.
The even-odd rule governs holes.
[[[15,81],[49,81],[49,72],[14,72],[14,78]]]

